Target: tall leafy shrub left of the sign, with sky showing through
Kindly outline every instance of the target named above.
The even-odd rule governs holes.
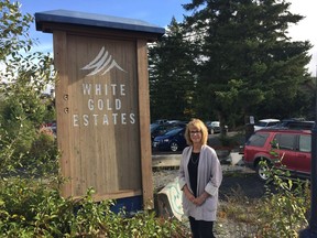
[[[55,116],[54,102],[43,97],[55,75],[50,55],[31,52],[34,43],[28,30],[33,18],[22,15],[19,7],[19,2],[0,1],[0,64],[3,66],[0,72],[0,174],[23,172],[30,176],[34,175],[30,164],[43,169],[42,174],[56,171],[51,163],[57,160],[56,143],[39,133],[40,126]],[[43,143],[41,149],[39,143]]]

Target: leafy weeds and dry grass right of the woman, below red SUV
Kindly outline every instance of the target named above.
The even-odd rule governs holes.
[[[220,204],[216,230],[244,238],[295,238],[308,225],[309,181],[292,178],[274,167],[267,172],[261,198],[249,198],[240,187]]]

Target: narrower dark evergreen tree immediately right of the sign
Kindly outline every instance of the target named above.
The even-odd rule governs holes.
[[[192,110],[196,89],[194,74],[194,46],[183,34],[175,18],[166,34],[150,46],[150,102],[151,119],[168,118],[186,120]]]

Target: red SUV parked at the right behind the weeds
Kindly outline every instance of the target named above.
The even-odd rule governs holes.
[[[266,181],[267,166],[281,163],[295,176],[310,176],[311,131],[263,129],[253,133],[244,144],[243,162]],[[273,153],[272,153],[273,152]],[[281,160],[281,163],[274,161]],[[260,163],[266,161],[267,166]]]

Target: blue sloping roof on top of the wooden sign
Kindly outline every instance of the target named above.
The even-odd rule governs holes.
[[[105,29],[117,29],[124,31],[136,31],[145,33],[154,33],[163,35],[165,30],[145,21],[119,18],[112,15],[92,14],[85,12],[67,11],[67,10],[53,10],[35,13],[35,23],[37,31],[46,31],[43,29],[43,23],[61,23],[61,24],[75,24],[85,26],[97,26]]]

